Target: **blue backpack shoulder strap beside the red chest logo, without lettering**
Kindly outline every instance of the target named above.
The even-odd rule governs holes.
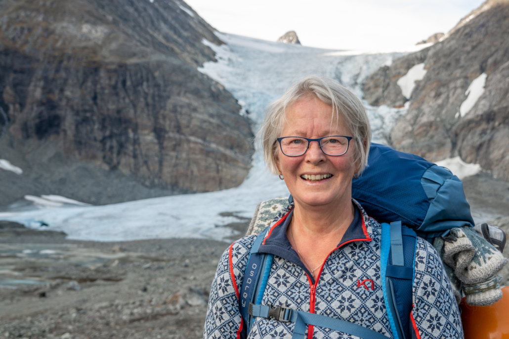
[[[410,312],[417,235],[401,221],[382,224],[380,267],[382,290],[395,338],[410,339]]]

